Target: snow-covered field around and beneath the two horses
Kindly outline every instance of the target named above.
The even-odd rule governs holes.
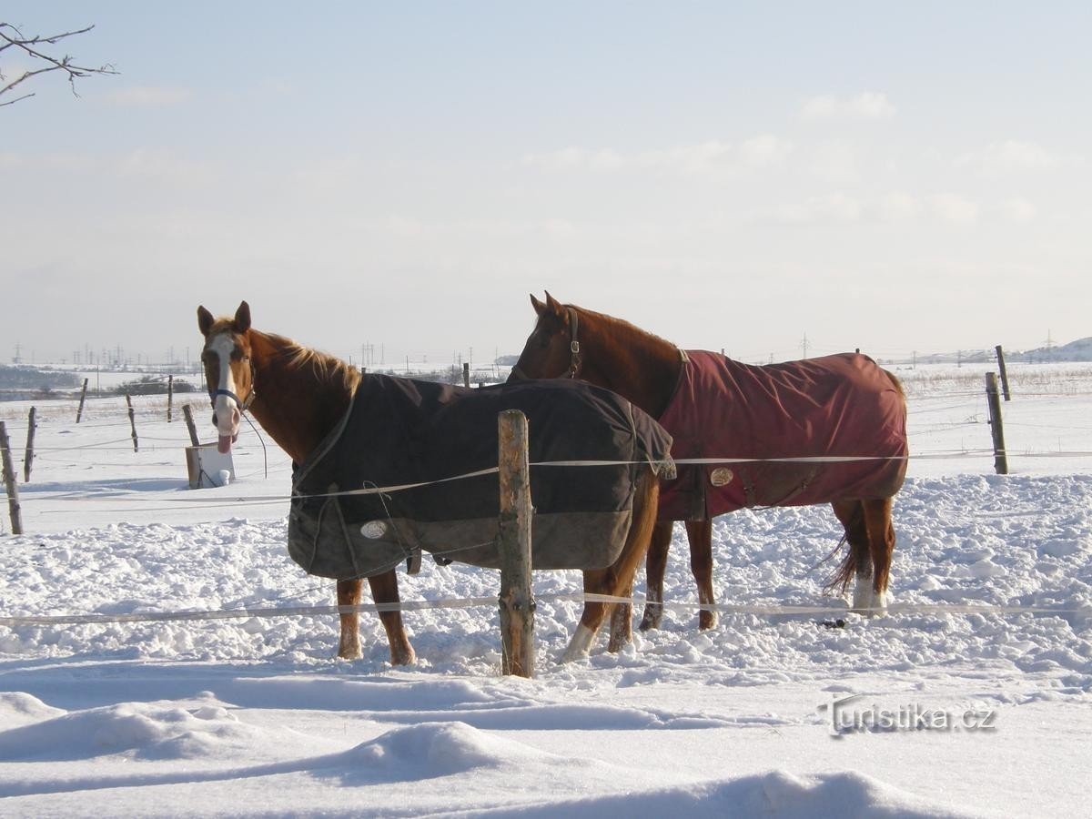
[[[333,584],[287,557],[272,441],[266,460],[245,431],[237,479],[189,490],[163,399],[134,400],[139,453],[123,402],[80,425],[51,402],[23,483],[29,405],[0,404],[28,533],[0,506],[0,815],[1092,815],[1092,365],[1010,366],[1004,477],[981,365],[893,369],[913,459],[888,616],[822,596],[828,509],[743,511],[715,524],[710,632],[680,527],[665,595],[684,605],[618,655],[601,636],[558,664],[579,604],[551,595],[580,578],[537,573],[531,680],[499,676],[495,606],[408,613],[418,663],[397,669],[370,614],[355,662],[330,614],[26,621],[330,606]],[[183,400],[209,440],[205,400]],[[498,589],[427,560],[400,582],[405,601]],[[830,610],[770,610],[793,607]]]

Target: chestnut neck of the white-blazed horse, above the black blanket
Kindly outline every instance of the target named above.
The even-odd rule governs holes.
[[[348,410],[352,393],[336,375],[295,361],[299,347],[250,330],[254,402],[250,412],[292,460],[302,463]]]

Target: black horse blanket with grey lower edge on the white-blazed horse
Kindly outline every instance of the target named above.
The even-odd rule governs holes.
[[[420,549],[499,567],[503,410],[527,417],[533,567],[609,566],[629,532],[640,471],[674,474],[670,436],[655,420],[575,381],[475,390],[379,375],[361,378],[345,417],[294,470],[292,558],[342,580],[381,573]],[[556,465],[572,461],[609,463]]]

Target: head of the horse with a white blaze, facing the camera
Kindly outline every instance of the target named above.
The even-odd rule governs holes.
[[[212,401],[212,423],[219,434],[217,449],[229,452],[239,437],[242,413],[254,399],[254,369],[250,348],[250,306],[242,301],[234,318],[216,319],[198,307],[198,327],[204,336],[201,363]]]

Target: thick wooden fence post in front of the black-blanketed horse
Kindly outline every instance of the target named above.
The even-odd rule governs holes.
[[[535,598],[531,592],[531,477],[527,418],[519,410],[497,416],[500,464],[501,672],[535,673]]]

